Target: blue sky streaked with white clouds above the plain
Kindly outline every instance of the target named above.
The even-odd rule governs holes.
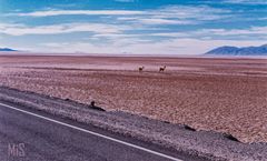
[[[267,43],[267,0],[0,0],[0,48],[199,54]]]

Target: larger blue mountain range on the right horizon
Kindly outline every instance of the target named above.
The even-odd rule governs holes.
[[[267,56],[267,44],[260,47],[219,47],[212,49],[205,54],[209,56]]]

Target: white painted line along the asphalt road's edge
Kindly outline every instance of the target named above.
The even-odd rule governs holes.
[[[36,113],[29,112],[29,111],[17,109],[17,108],[11,107],[9,104],[0,103],[0,105],[7,107],[9,109],[17,110],[17,111],[30,114],[30,115],[34,115],[37,118],[41,118],[41,119],[44,119],[44,120],[48,120],[48,121],[51,121],[51,122],[55,122],[55,123],[58,123],[58,124],[61,124],[61,125],[65,125],[65,127],[69,127],[71,129],[76,129],[76,130],[79,130],[79,131],[82,131],[82,132],[86,132],[86,133],[90,133],[92,135],[105,138],[107,140],[111,140],[113,142],[117,142],[117,143],[121,143],[121,144],[125,144],[125,145],[128,145],[128,147],[131,147],[131,148],[135,148],[135,149],[138,149],[138,150],[142,150],[142,151],[146,151],[148,153],[152,153],[152,154],[156,154],[156,155],[159,155],[159,157],[172,160],[172,161],[182,161],[180,159],[177,159],[177,158],[174,158],[174,157],[170,157],[170,155],[167,155],[167,154],[154,151],[154,150],[149,150],[149,149],[146,149],[146,148],[142,148],[142,147],[139,147],[139,145],[136,145],[136,144],[132,144],[132,143],[129,143],[129,142],[125,142],[125,141],[121,141],[121,140],[118,140],[118,139],[115,139],[115,138],[111,138],[111,137],[107,137],[107,135],[103,135],[103,134],[100,134],[100,133],[97,133],[97,132],[93,132],[93,131],[89,131],[89,130],[86,130],[86,129],[82,129],[82,128],[78,128],[78,127],[65,123],[65,122],[60,122],[60,121],[57,121],[57,120],[53,120],[53,119],[50,119],[50,118],[46,118],[46,117],[42,117],[42,115],[39,115],[39,114],[36,114]]]

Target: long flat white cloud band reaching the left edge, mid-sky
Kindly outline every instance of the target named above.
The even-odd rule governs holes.
[[[119,33],[126,30],[126,26],[113,26],[106,23],[63,23],[52,26],[28,27],[24,24],[0,23],[0,33],[10,36],[24,34],[57,34],[71,32],[95,32],[95,33]]]

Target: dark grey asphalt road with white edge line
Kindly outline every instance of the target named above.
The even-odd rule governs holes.
[[[168,161],[199,159],[151,143],[0,102],[1,161]]]

